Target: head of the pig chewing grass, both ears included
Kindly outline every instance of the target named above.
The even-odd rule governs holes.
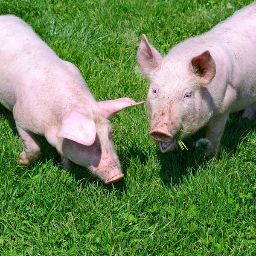
[[[215,76],[215,61],[209,51],[189,60],[163,58],[142,36],[137,60],[150,80],[147,112],[150,136],[162,152],[205,125],[212,111],[207,84]],[[208,103],[207,103],[208,101]]]

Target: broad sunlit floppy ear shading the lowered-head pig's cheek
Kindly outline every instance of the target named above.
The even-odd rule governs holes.
[[[69,111],[62,119],[61,129],[56,137],[87,146],[93,145],[96,137],[95,122],[77,111]]]

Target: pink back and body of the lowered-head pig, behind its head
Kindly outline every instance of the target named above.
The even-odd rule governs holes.
[[[79,70],[13,15],[0,16],[0,61],[0,102],[23,128],[44,135],[70,109],[95,102]]]

